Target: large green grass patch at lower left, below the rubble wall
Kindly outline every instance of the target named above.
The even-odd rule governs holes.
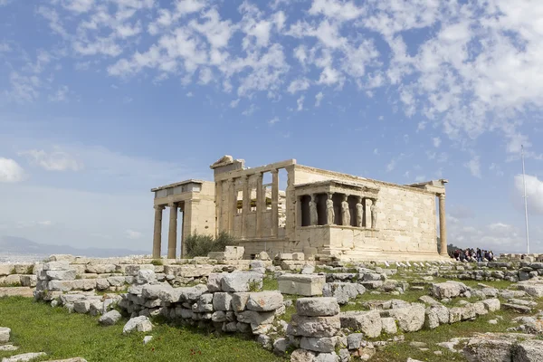
[[[156,325],[154,338],[144,345],[144,334],[122,335],[124,323],[100,327],[97,318],[68,314],[62,308],[24,298],[0,299],[0,325],[12,329],[15,352],[45,352],[41,360],[83,357],[88,361],[284,361],[252,339],[214,336],[196,329]]]

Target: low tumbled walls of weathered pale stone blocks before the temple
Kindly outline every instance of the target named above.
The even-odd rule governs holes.
[[[29,284],[4,287],[0,293],[25,288],[36,300],[97,316],[104,326],[119,323],[124,314],[129,317],[124,333],[149,331],[152,320],[160,316],[208,330],[250,334],[275,353],[291,351],[293,361],[365,360],[388,343],[401,343],[405,333],[474,320],[500,309],[519,313],[515,331],[543,333],[543,317],[522,316],[535,308],[534,298],[543,296],[540,262],[390,262],[386,267],[306,261],[296,252],[278,253],[273,260],[265,252],[252,261],[239,259],[240,255],[242,250],[229,247],[210,257],[171,264],[53,255],[49,262],[0,268],[2,281]],[[31,269],[33,274],[28,274]],[[433,281],[440,277],[457,281]],[[266,280],[276,280],[277,291],[262,291]],[[469,287],[462,280],[481,283]],[[498,290],[484,284],[496,280],[516,282],[516,288]],[[428,295],[415,302],[395,299],[425,288]],[[368,293],[386,295],[387,300],[362,302],[363,310],[340,310]],[[294,305],[291,296],[296,298]],[[288,308],[295,314],[283,320]],[[498,336],[464,340],[465,353],[484,355],[474,341],[492,338],[501,340]],[[538,344],[532,339],[527,343]],[[513,349],[508,353],[516,353]]]

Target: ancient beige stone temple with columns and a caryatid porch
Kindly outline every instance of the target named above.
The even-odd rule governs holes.
[[[168,258],[179,255],[178,240],[184,255],[183,242],[191,233],[226,232],[244,246],[247,259],[266,251],[333,255],[340,260],[436,260],[441,257],[438,219],[446,255],[446,180],[395,185],[301,166],[295,159],[249,168],[242,159],[225,156],[211,168],[214,182],[191,179],[151,190],[154,257],[160,256],[166,207]],[[280,175],[286,179],[280,180]],[[285,185],[284,191],[280,185]]]

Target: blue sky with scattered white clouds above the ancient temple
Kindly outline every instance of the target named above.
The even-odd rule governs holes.
[[[523,144],[543,252],[542,59],[538,0],[0,0],[0,235],[150,250],[229,154],[447,178],[449,241],[521,252]]]

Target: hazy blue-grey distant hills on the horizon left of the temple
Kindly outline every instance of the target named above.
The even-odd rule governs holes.
[[[129,249],[85,248],[79,249],[69,245],[51,245],[34,243],[31,240],[18,236],[0,236],[0,252],[17,254],[72,254],[94,258],[108,258],[114,256],[146,255],[149,251]]]

